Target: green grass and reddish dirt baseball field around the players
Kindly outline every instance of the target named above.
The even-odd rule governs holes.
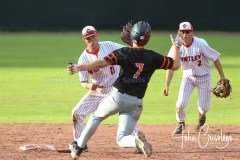
[[[168,33],[154,32],[146,48],[166,55],[171,45]],[[198,120],[195,90],[187,108],[186,135],[173,138],[182,72],[175,72],[170,95],[164,97],[166,72],[156,71],[138,122],[153,144],[154,154],[149,159],[240,157],[240,33],[196,35],[222,54],[220,61],[230,79],[232,94],[226,99],[212,96],[207,114],[209,130],[202,134],[200,142],[200,134],[194,130]],[[99,40],[122,43],[118,37],[115,31],[100,31]],[[71,110],[87,90],[81,87],[77,75],[67,74],[66,65],[68,61],[77,62],[84,48],[79,33],[0,33],[0,159],[71,159],[67,153],[72,140]],[[219,80],[214,66],[212,75],[214,86]],[[89,151],[82,154],[83,159],[145,159],[142,154],[134,154],[133,149],[117,146],[117,120],[116,115],[103,122],[88,144]],[[52,145],[57,151],[18,149],[26,144]]]

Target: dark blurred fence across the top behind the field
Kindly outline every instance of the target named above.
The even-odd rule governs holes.
[[[128,20],[158,30],[191,21],[197,30],[240,31],[239,17],[239,0],[0,0],[2,31],[119,29]]]

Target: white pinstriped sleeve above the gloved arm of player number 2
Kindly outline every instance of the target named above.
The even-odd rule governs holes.
[[[212,49],[205,40],[202,40],[202,54],[213,62],[221,55],[219,52]]]

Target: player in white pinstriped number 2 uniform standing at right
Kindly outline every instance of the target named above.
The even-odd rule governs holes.
[[[211,99],[211,66],[212,61],[218,70],[221,79],[225,79],[222,65],[219,61],[220,53],[212,49],[204,39],[193,36],[193,27],[189,22],[179,24],[179,39],[182,43],[180,47],[180,60],[182,65],[182,82],[179,90],[178,100],[176,103],[176,119],[178,126],[175,134],[181,134],[185,127],[185,109],[194,88],[198,89],[198,112],[199,121],[197,130],[206,121],[206,113],[210,109]],[[169,56],[172,51],[169,51]],[[165,96],[169,93],[169,85],[173,77],[173,70],[168,70],[166,74],[166,85],[163,90]]]

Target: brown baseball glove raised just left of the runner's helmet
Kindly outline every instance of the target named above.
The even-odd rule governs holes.
[[[132,23],[128,22],[125,26],[123,26],[123,30],[121,32],[121,40],[128,44],[129,46],[132,46],[132,39],[131,39],[131,31],[132,31]]]

